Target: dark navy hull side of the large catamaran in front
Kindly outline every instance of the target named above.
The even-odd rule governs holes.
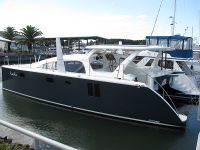
[[[3,89],[95,114],[183,127],[178,114],[148,87],[2,67]]]

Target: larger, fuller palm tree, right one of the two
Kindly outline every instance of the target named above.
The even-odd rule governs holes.
[[[31,52],[32,45],[36,42],[36,37],[41,36],[43,33],[31,25],[27,25],[26,28],[20,30],[22,38],[19,39],[18,42],[27,45],[29,52]]]

